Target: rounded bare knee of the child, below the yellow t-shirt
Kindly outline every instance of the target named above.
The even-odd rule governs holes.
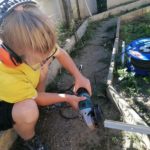
[[[34,100],[16,103],[12,110],[12,117],[16,123],[33,123],[39,117],[39,110]]]

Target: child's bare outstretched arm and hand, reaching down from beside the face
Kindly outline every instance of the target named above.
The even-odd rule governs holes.
[[[92,91],[90,81],[80,73],[80,71],[78,70],[68,53],[65,50],[59,48],[55,54],[55,57],[63,65],[63,67],[66,70],[68,70],[75,78],[74,92],[76,92],[78,88],[84,87],[88,90],[89,94],[91,95]]]

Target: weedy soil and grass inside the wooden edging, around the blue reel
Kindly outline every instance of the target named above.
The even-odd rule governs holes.
[[[120,33],[120,42],[125,41],[126,45],[138,38],[150,37],[150,13],[124,23],[121,25]],[[150,76],[134,76],[126,71],[126,66],[117,67],[120,80],[116,87],[130,106],[150,125]]]

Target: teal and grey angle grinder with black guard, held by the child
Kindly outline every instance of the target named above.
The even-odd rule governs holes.
[[[84,122],[93,130],[104,120],[102,109],[98,104],[93,105],[91,97],[85,88],[79,88],[77,95],[86,97],[85,100],[79,102],[79,110]]]

